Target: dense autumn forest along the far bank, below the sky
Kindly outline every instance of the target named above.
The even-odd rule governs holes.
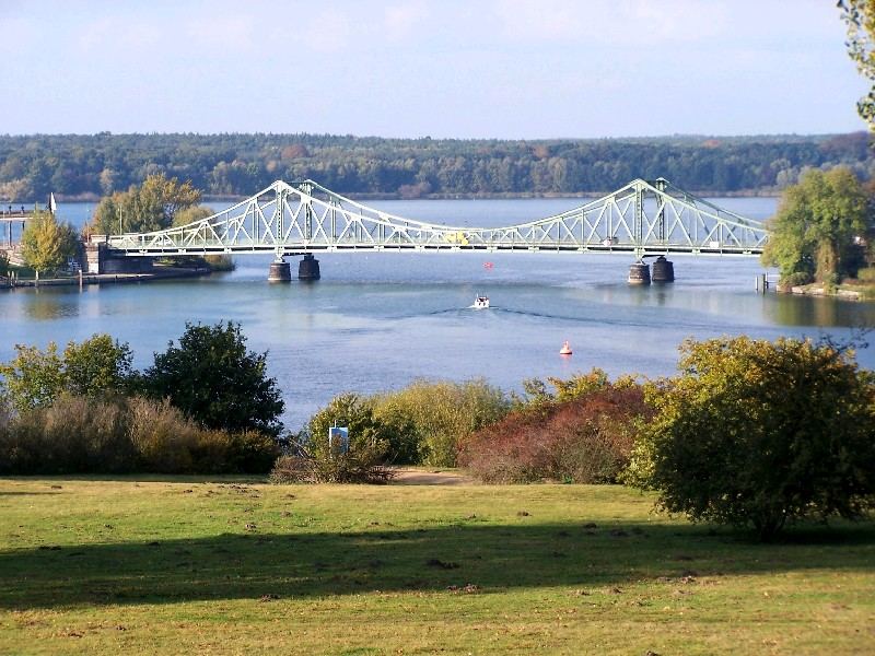
[[[0,134],[0,200],[96,198],[154,173],[207,196],[248,196],[276,179],[339,192],[422,198],[611,191],[665,177],[696,192],[767,194],[808,168],[875,173],[866,132],[826,136],[458,140],[331,134]]]

